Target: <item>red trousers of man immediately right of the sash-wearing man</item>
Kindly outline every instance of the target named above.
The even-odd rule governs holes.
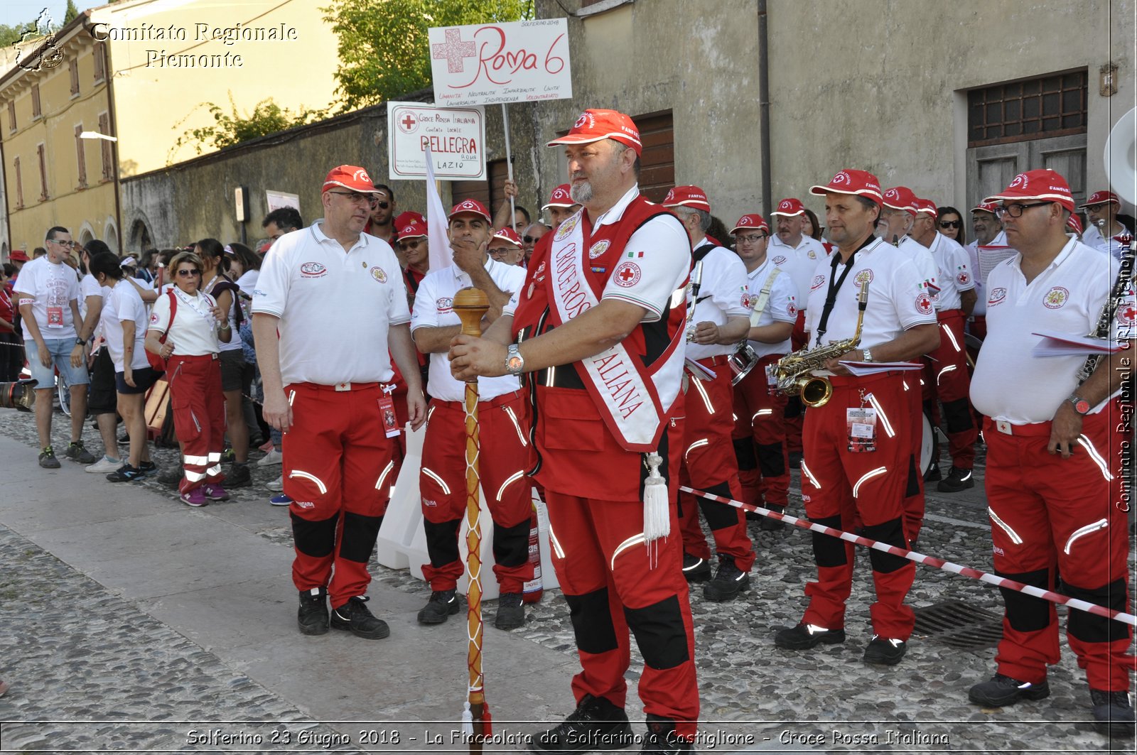
[[[707,360],[709,362],[709,360]],[[716,486],[725,483],[731,498],[742,495],[738,482],[738,461],[735,458],[735,443],[731,434],[735,430],[735,390],[730,384],[730,368],[727,365],[712,367],[716,370],[714,380],[689,378],[684,407],[687,417],[683,422],[683,464],[680,480],[683,484],[698,490],[724,495]],[[711,536],[714,538],[719,556],[732,556],[735,565],[744,572],[754,564],[754,548],[746,533],[746,515],[740,508],[727,506],[716,501],[700,501],[699,508],[722,507],[720,517],[711,522]],[[691,506],[691,511],[696,509]],[[687,518],[688,507],[683,505],[683,517]],[[729,524],[724,524],[727,520]],[[688,536],[694,540],[697,530],[696,522],[683,523],[684,547]],[[698,538],[703,534],[699,532]],[[698,555],[688,550],[691,555]]]

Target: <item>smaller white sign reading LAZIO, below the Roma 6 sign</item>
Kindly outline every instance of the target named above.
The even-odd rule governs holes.
[[[425,177],[428,148],[437,179],[484,179],[485,111],[388,102],[387,146],[392,180]]]

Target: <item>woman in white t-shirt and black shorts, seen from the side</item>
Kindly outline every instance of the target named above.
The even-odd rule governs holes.
[[[114,363],[118,414],[123,416],[131,439],[130,458],[107,475],[111,482],[141,480],[155,470],[146,430],[146,393],[158,382],[159,373],[146,356],[146,305],[134,285],[126,277],[111,252],[98,254],[90,262],[91,275],[103,290],[105,297],[99,318],[106,350]]]

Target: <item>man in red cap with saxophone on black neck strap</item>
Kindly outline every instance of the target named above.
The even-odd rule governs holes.
[[[911,468],[912,403],[918,373],[887,367],[861,378],[843,360],[895,363],[914,359],[939,345],[936,310],[912,258],[874,235],[883,204],[877,176],[840,171],[825,185],[810,189],[825,197],[829,238],[837,249],[818,267],[806,323],[810,347],[853,338],[858,301],[869,287],[857,346],[814,371],[832,384],[824,404],[805,415],[802,500],[810,521],[850,530],[855,520],[866,538],[904,548],[904,497]],[[810,606],[802,622],[774,637],[782,648],[803,650],[845,641],[845,601],[853,584],[853,546],[813,534],[818,581],[806,584]],[[907,649],[914,615],[904,598],[915,565],[899,556],[870,550],[877,601],[871,606],[873,637],[865,663],[894,665]]]

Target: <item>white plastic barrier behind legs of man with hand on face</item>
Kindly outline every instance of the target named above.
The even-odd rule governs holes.
[[[383,516],[383,525],[379,529],[375,544],[375,557],[379,563],[389,569],[410,569],[410,573],[423,579],[423,564],[430,563],[426,555],[426,533],[423,530],[423,514],[418,496],[418,468],[422,465],[424,428],[416,431],[407,430],[407,457],[399,471],[399,479],[391,493],[391,503]],[[485,506],[484,493],[479,495],[482,506],[482,597],[498,597],[497,580],[493,578],[493,520]],[[553,562],[549,557],[549,517],[537,493],[532,490],[532,499],[538,506],[538,542],[541,549],[541,582],[543,589],[558,586]],[[466,525],[463,517],[462,530],[458,533],[458,550],[463,563],[466,559]],[[467,579],[458,580],[458,591],[465,594]]]

